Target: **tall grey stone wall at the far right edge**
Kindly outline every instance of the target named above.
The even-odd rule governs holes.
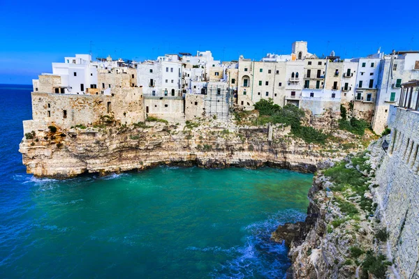
[[[378,203],[401,278],[419,278],[419,112],[397,109],[376,172]]]

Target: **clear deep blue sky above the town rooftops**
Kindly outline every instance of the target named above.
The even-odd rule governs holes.
[[[419,1],[0,0],[0,83],[31,84],[64,56],[154,59],[211,50],[215,59],[309,52],[344,58],[419,50]]]

